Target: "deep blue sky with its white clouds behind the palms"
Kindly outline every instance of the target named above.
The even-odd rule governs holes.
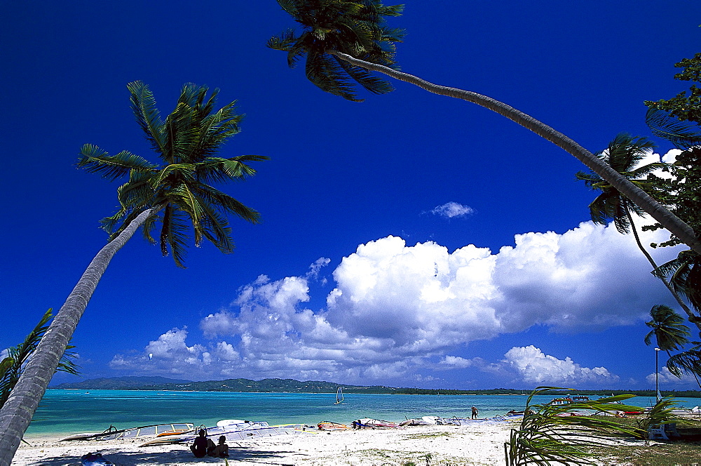
[[[391,24],[408,31],[404,71],[597,152],[649,135],[643,101],[688,88],[673,65],[699,51],[700,13],[690,0],[409,1]],[[271,157],[226,188],[263,223],[234,222],[236,253],[191,248],[184,270],[133,238],[74,335],[83,377],[654,386],[644,321],[674,302],[632,237],[588,221],[584,167],[533,133],[409,84],[362,103],[323,93],[264,46],[293,25],[274,0],[27,1],[2,16],[0,347],[58,309],[104,244],[117,184],[75,168],[81,145],[154,159],[125,85],[149,84],[167,113],[193,82],[246,114],[224,157]]]

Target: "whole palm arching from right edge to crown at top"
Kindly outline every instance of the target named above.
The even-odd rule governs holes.
[[[372,93],[391,91],[386,81],[369,73],[375,71],[432,93],[481,105],[562,147],[658,220],[669,232],[701,253],[701,240],[691,227],[564,134],[493,98],[458,88],[437,86],[398,71],[394,60],[395,43],[402,41],[404,30],[387,27],[384,18],[400,15],[402,5],[385,6],[380,0],[278,0],[278,4],[301,25],[302,32],[298,35],[289,29],[279,36],[273,36],[267,46],[287,52],[290,67],[294,67],[306,55],[306,76],[323,91],[355,101],[359,100],[355,93],[358,84]]]

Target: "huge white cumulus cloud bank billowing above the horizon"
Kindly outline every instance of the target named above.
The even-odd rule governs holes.
[[[666,234],[641,237],[648,244]],[[652,253],[662,263],[676,251]],[[362,384],[427,380],[427,371],[447,370],[604,383],[615,379],[605,368],[581,367],[533,346],[491,364],[450,354],[534,325],[582,331],[632,324],[651,303],[670,301],[632,236],[592,222],[563,234],[520,234],[498,253],[474,245],[451,252],[432,241],[410,246],[393,236],[369,241],[341,260],[326,307],[312,310],[310,283],[329,262],[321,258],[301,276],[261,275],[239,288],[231,306],[200,322],[204,343],[188,345],[185,329],[173,329],[143,352],[116,356],[112,366]]]

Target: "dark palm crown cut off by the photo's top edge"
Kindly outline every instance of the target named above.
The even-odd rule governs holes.
[[[290,67],[306,55],[306,76],[310,81],[324,91],[355,102],[362,99],[356,97],[353,81],[376,94],[393,90],[387,81],[329,51],[396,67],[394,44],[402,41],[405,32],[386,27],[384,17],[400,15],[403,5],[384,6],[379,0],[278,0],[278,4],[303,29],[299,35],[288,29],[266,44],[286,51]]]

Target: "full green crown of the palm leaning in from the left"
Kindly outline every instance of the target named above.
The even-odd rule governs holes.
[[[110,180],[128,177],[117,189],[121,208],[102,220],[103,228],[114,239],[139,213],[156,208],[160,213],[144,223],[144,237],[155,243],[151,232],[160,221],[161,251],[167,255],[170,248],[179,267],[184,267],[188,225],[196,246],[204,238],[231,253],[234,244],[228,215],[257,223],[259,213],[210,183],[253,175],[255,170],[247,162],[267,159],[257,155],[215,157],[226,140],[240,131],[243,115],[236,114],[236,102],[215,111],[218,89],[207,98],[208,88],[186,84],[175,110],[163,121],[148,86],[135,81],[127,88],[139,126],[163,163],[152,164],[128,151],[111,156],[95,145],[83,146],[79,167]]]

